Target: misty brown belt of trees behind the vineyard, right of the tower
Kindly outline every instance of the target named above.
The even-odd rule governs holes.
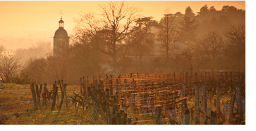
[[[157,21],[138,8],[110,1],[102,14],[76,20],[70,47],[59,56],[31,60],[20,74],[38,83],[82,75],[168,71],[245,71],[245,11],[207,5],[193,13],[164,11]],[[2,78],[3,79],[3,78]]]

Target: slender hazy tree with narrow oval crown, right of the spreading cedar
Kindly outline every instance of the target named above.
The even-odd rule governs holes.
[[[159,24],[159,41],[161,41],[161,50],[165,52],[166,57],[169,53],[176,49],[175,42],[178,40],[178,25],[175,22],[175,16],[166,11],[164,18],[161,19]]]

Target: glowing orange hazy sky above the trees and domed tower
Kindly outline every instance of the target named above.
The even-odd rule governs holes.
[[[80,18],[80,13],[100,13],[99,5],[104,3],[106,1],[0,1],[0,39],[20,38],[25,34],[35,36],[35,32],[41,32],[42,38],[51,40],[58,29],[61,10],[64,29],[70,34],[75,27],[74,19]],[[217,10],[226,5],[245,9],[245,1],[126,1],[126,4],[140,8],[142,16],[152,16],[155,20],[163,17],[166,8],[170,8],[171,13],[185,13],[185,8],[190,6],[195,14],[205,4]],[[0,45],[8,46],[8,39],[6,41],[0,40]]]

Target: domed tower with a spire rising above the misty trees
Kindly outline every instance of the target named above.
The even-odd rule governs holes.
[[[59,29],[54,34],[54,56],[59,55],[68,48],[69,37],[66,30],[63,28],[64,22],[59,20]]]

